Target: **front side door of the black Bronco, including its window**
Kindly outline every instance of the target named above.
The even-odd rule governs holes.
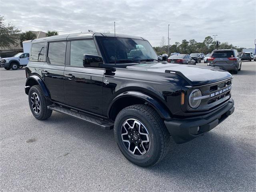
[[[85,68],[84,54],[96,54],[94,40],[70,42],[70,65],[64,70],[65,103],[68,106],[102,115],[102,80],[104,69]]]

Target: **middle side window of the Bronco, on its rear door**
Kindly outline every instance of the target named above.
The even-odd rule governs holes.
[[[48,62],[53,65],[65,65],[67,42],[51,42],[48,46]]]

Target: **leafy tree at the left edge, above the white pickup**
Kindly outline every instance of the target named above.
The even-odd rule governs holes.
[[[9,48],[12,45],[18,45],[20,29],[8,23],[4,24],[4,17],[0,15],[0,47]]]

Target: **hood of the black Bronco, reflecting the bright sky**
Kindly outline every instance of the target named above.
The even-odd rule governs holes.
[[[133,66],[127,66],[127,68],[162,73],[176,73],[184,78],[191,86],[210,84],[232,77],[229,72],[210,66],[194,66],[159,62],[136,64]]]

